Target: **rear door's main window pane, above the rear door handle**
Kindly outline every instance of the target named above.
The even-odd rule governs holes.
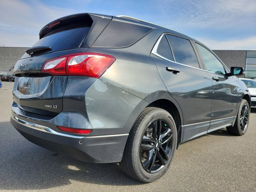
[[[196,57],[196,53],[189,40],[173,35],[167,35],[175,61],[192,67],[200,68]]]

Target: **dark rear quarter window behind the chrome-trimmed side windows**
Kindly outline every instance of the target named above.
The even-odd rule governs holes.
[[[133,44],[152,28],[112,20],[93,46],[96,47],[125,47]]]

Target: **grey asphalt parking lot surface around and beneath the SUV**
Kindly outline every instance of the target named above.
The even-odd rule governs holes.
[[[256,110],[244,136],[217,130],[181,144],[168,172],[150,184],[118,164],[90,164],[30,143],[10,124],[13,82],[0,89],[0,191],[256,192]]]

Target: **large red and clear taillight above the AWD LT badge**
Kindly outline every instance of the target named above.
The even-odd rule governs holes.
[[[44,62],[41,72],[56,76],[88,76],[99,78],[114,62],[111,55],[76,53],[56,57]]]

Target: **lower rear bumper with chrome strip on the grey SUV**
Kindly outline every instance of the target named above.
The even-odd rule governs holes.
[[[74,136],[56,132],[27,119],[11,116],[12,125],[30,142],[72,158],[93,163],[120,162],[128,134]]]

